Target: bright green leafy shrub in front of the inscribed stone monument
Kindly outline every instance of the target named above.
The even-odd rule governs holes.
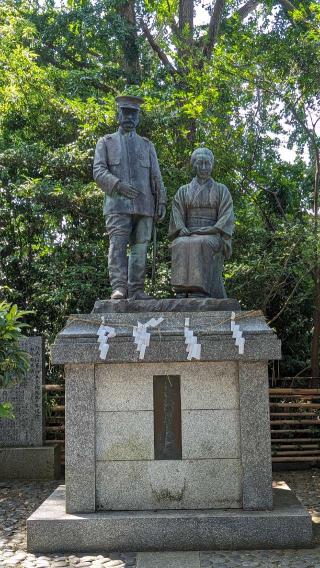
[[[27,327],[21,319],[29,312],[18,310],[16,305],[0,302],[0,389],[19,383],[29,369],[29,356],[19,346],[22,329]],[[10,403],[0,403],[0,418],[13,418]]]

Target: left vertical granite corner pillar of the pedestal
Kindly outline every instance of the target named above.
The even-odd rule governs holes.
[[[68,513],[95,511],[94,365],[65,367]]]

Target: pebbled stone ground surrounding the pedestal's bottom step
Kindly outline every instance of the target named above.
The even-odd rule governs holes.
[[[308,507],[314,520],[315,547],[307,550],[201,552],[199,564],[185,568],[320,568],[320,470],[276,472]],[[143,568],[142,558],[128,554],[35,555],[26,550],[26,519],[58,485],[57,482],[0,482],[0,567],[2,568]],[[319,524],[317,524],[319,523]],[[191,557],[190,557],[191,559]],[[164,566],[164,555],[155,554],[153,568]],[[169,564],[168,564],[169,565]],[[170,563],[170,567],[171,567]],[[148,563],[148,567],[151,564]],[[179,563],[180,568],[180,563]]]

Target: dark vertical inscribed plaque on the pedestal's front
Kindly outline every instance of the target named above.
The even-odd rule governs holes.
[[[179,375],[153,377],[154,458],[181,460],[181,399]]]

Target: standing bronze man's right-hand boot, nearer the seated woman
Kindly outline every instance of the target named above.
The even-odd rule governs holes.
[[[144,292],[147,251],[148,243],[131,247],[128,265],[128,295],[133,300],[152,300],[152,297]]]

